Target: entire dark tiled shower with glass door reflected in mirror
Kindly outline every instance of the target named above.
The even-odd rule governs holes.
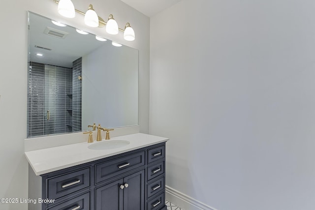
[[[72,68],[29,66],[28,137],[81,130],[82,58]]]

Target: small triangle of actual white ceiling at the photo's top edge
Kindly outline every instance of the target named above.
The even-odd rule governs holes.
[[[121,0],[148,17],[152,17],[181,0]]]

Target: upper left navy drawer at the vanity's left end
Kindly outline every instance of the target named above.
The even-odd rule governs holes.
[[[49,199],[58,199],[90,186],[90,168],[47,179]]]

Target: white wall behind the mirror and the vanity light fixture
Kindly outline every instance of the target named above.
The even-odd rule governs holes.
[[[120,28],[127,21],[136,32],[136,40],[127,42],[120,33],[106,34],[105,29],[91,29],[83,24],[83,16],[64,19],[52,0],[6,0],[0,13],[0,198],[28,198],[28,163],[24,157],[27,128],[27,10],[62,20],[82,30],[139,49],[139,124],[140,131],[149,131],[149,27],[148,17],[119,0],[73,0],[75,7],[85,11],[94,5],[100,17],[112,13]],[[26,204],[1,204],[1,210],[26,210]]]

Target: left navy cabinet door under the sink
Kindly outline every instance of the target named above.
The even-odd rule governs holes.
[[[111,182],[95,190],[95,210],[124,210],[123,179]]]

